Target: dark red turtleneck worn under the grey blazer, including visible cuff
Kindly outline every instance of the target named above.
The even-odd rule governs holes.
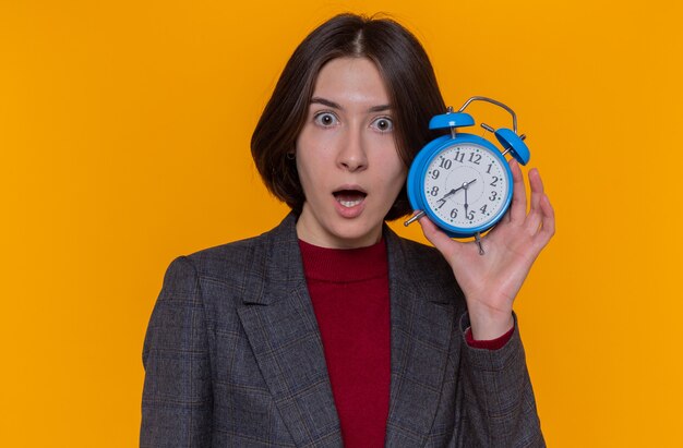
[[[391,380],[388,263],[384,240],[369,247],[319,247],[299,240],[346,448],[382,447]],[[467,342],[495,350],[493,341]]]

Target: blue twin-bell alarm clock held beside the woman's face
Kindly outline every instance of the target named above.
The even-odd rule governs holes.
[[[495,135],[502,152],[486,138],[458,132],[459,128],[475,124],[475,119],[464,112],[472,101],[493,104],[512,116],[512,130],[494,130],[481,123]],[[475,237],[479,253],[483,254],[481,233],[503,218],[512,201],[513,179],[505,155],[522,165],[530,157],[525,135],[517,134],[517,117],[500,101],[475,96],[457,112],[450,107],[446,113],[433,117],[429,128],[448,129],[451,133],[428,143],[412,161],[407,192],[412,209],[419,213],[405,225],[427,215],[451,238]]]

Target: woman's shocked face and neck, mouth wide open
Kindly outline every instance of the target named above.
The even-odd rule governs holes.
[[[325,247],[376,243],[406,179],[393,111],[367,58],[338,58],[321,70],[296,158],[305,202],[297,233]]]

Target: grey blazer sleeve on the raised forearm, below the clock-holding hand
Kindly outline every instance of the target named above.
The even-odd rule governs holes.
[[[515,316],[515,329],[498,350],[465,341],[468,315],[460,319],[464,411],[458,447],[544,447],[534,390]]]

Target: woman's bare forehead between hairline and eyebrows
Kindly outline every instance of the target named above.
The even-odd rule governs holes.
[[[386,85],[368,58],[337,58],[321,69],[313,96],[334,101],[387,104]]]

